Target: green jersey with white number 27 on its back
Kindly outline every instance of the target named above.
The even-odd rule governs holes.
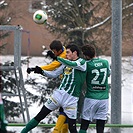
[[[108,99],[108,76],[110,67],[107,60],[94,58],[87,61],[87,90],[85,97],[92,99]]]

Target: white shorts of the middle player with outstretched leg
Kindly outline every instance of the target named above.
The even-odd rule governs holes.
[[[56,89],[52,96],[46,101],[45,106],[50,110],[62,107],[69,118],[76,119],[78,100],[78,97],[69,95],[65,90]]]

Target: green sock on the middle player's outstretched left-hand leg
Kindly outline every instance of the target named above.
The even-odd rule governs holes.
[[[21,131],[21,133],[28,133],[31,129],[36,127],[38,125],[38,121],[36,121],[34,118],[29,121],[29,123],[26,124],[26,127]]]

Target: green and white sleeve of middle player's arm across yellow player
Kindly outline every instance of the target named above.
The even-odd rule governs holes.
[[[64,64],[65,66],[72,67],[74,69],[78,69],[81,71],[86,71],[86,62],[84,59],[79,58],[76,61],[70,61],[67,59],[63,59],[61,57],[57,57],[57,60]]]

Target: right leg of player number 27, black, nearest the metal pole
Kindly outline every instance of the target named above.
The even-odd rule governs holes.
[[[104,133],[105,120],[97,120],[96,130],[97,133]]]

